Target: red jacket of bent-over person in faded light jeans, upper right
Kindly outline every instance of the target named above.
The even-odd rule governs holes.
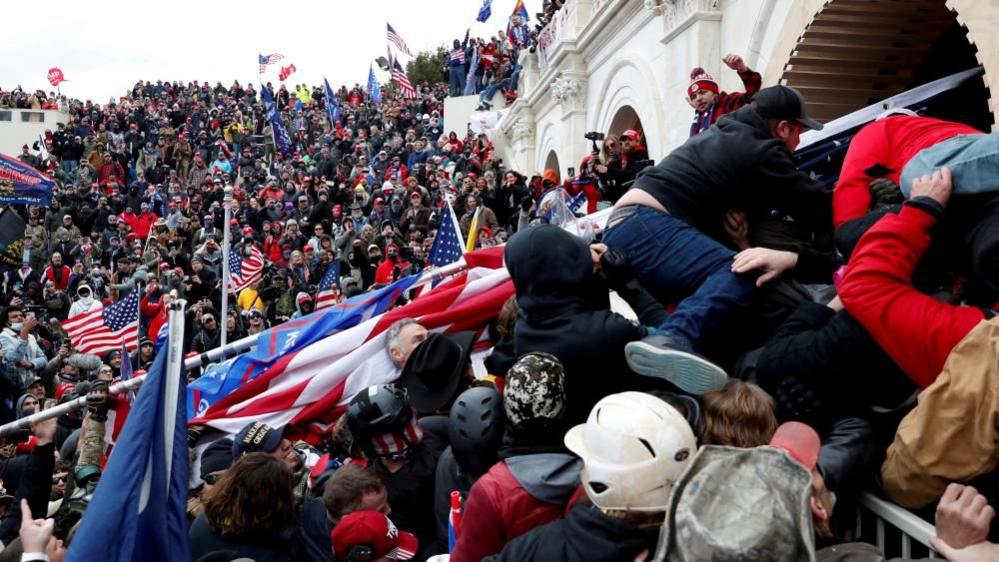
[[[871,207],[868,184],[879,174],[868,174],[875,165],[898,183],[902,168],[917,152],[958,135],[982,134],[962,123],[931,117],[895,115],[865,126],[853,140],[843,159],[839,181],[833,191],[833,225],[862,217]]]

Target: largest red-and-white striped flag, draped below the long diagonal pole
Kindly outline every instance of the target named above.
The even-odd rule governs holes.
[[[236,433],[250,421],[262,421],[289,425],[293,437],[317,441],[356,393],[399,376],[385,351],[385,331],[394,322],[417,318],[430,330],[450,333],[482,330],[499,314],[514,294],[502,266],[503,248],[465,254],[465,259],[472,268],[466,273],[406,306],[283,355],[190,423]]]

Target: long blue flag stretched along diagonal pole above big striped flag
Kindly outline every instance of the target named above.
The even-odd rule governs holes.
[[[212,365],[187,387],[190,418],[203,415],[219,400],[266,372],[285,354],[385,312],[419,277],[410,275],[377,291],[357,295],[334,307],[264,330],[257,336],[256,349]]]

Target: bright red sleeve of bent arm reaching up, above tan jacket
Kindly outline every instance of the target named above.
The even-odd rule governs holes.
[[[857,243],[839,287],[846,310],[920,388],[936,380],[954,346],[985,319],[978,308],[942,303],[912,286],[936,222],[921,204],[885,215]]]

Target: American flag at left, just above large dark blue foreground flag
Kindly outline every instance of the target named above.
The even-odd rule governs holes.
[[[123,341],[126,350],[135,349],[139,346],[139,289],[111,306],[70,318],[63,328],[80,353],[100,355],[117,349]]]

